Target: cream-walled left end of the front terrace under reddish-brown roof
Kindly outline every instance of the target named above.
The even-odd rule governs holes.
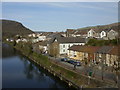
[[[99,49],[98,46],[81,46],[74,45],[68,50],[68,57],[75,60],[93,62],[95,61],[95,52]]]

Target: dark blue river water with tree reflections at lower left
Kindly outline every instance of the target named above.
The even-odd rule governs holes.
[[[3,44],[2,51],[2,88],[69,88],[11,46]]]

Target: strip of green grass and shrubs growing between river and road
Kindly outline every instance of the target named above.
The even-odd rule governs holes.
[[[56,62],[49,60],[47,56],[43,56],[42,54],[33,52],[32,44],[30,42],[28,43],[20,42],[19,44],[15,42],[13,43],[7,42],[7,43],[14,46],[17,50],[21,51],[21,53],[23,53],[31,60],[34,60],[34,62],[36,62],[38,65],[45,67],[47,70],[49,69],[50,71],[54,71],[55,73],[59,74],[61,77],[64,77],[68,81],[73,82],[77,86],[83,85],[83,87],[90,87],[90,88],[97,86],[105,86],[105,83],[95,79],[91,79],[90,84],[88,85],[88,81],[89,81],[88,77],[83,76],[82,74],[78,74],[74,72],[74,70],[69,70],[67,68],[58,65]]]

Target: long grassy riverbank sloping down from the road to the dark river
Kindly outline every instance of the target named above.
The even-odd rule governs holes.
[[[93,78],[89,78],[85,75],[81,75],[77,73],[75,70],[63,67],[61,64],[50,60],[48,57],[43,56],[41,54],[37,54],[35,52],[31,52],[27,45],[13,45],[12,43],[8,43],[12,45],[14,48],[19,50],[23,55],[28,57],[31,61],[36,63],[37,65],[43,67],[48,72],[52,73],[54,76],[59,77],[61,80],[67,82],[69,86],[74,86],[76,88],[96,88],[96,87],[105,87],[105,86],[113,86],[112,84],[105,83],[104,81],[96,80]]]

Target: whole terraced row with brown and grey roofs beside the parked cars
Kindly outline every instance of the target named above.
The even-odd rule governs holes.
[[[103,63],[107,66],[118,66],[117,46],[81,46],[74,45],[68,49],[68,57],[87,63]]]

